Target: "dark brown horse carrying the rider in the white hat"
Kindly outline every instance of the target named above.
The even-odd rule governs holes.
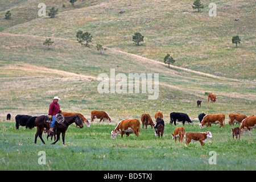
[[[49,126],[48,122],[44,121],[45,117],[46,117],[46,115],[40,115],[39,117],[37,117],[35,119],[34,123],[33,123],[33,121],[31,121],[31,123],[27,123],[27,126],[29,129],[32,129],[34,127],[34,125],[36,125],[36,127],[38,129],[35,134],[35,143],[36,143],[37,138],[39,137],[42,140],[43,144],[46,144],[42,138],[42,134],[43,134],[44,128],[49,130],[50,126]],[[82,125],[82,121],[81,121],[81,118],[79,117],[79,115],[65,117],[65,120],[62,124],[59,124],[57,122],[55,123],[57,139],[52,144],[55,144],[57,141],[59,141],[60,133],[62,133],[62,141],[63,141],[63,144],[65,144],[65,133],[68,129],[68,126],[71,125],[73,122],[75,122],[76,125],[80,127],[80,129],[82,127],[84,127],[84,125]]]

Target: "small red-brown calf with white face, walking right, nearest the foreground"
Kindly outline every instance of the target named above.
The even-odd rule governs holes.
[[[188,144],[192,141],[192,142],[200,142],[201,146],[204,146],[204,142],[205,140],[207,140],[207,138],[212,138],[212,133],[210,133],[210,131],[205,131],[204,133],[187,133],[186,134],[186,139],[185,142],[188,146]]]

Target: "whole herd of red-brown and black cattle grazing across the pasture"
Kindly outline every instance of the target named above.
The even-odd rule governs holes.
[[[208,102],[209,100],[211,100],[212,102],[216,102],[217,97],[210,93],[208,95]],[[197,101],[197,107],[201,106],[201,101]],[[100,122],[103,120],[107,120],[108,122],[111,122],[111,119],[109,117],[109,114],[106,113],[106,111],[100,111],[100,110],[92,110],[91,111],[91,121],[88,121],[88,119],[86,119],[84,117],[84,115],[82,115],[81,113],[68,113],[68,112],[62,112],[64,117],[72,117],[74,115],[78,115],[79,118],[81,119],[81,121],[83,123],[85,123],[86,126],[90,127],[90,122],[93,122],[94,119],[100,119]],[[11,118],[11,114],[7,114],[6,119],[10,120]],[[16,115],[15,117],[15,127],[16,129],[19,129],[19,126],[26,126],[26,128],[32,128],[34,126],[36,126],[35,124],[35,119],[37,117],[32,117],[31,115]],[[198,116],[199,118],[199,127],[200,129],[202,129],[205,125],[208,126],[212,126],[212,124],[217,125],[219,124],[220,128],[224,127],[225,124],[225,115],[224,114],[204,114],[201,113]],[[164,120],[163,120],[163,113],[158,111],[157,113],[155,113],[155,121],[156,123],[154,123],[152,121],[152,118],[150,117],[150,114],[142,114],[141,116],[141,122],[142,122],[142,129],[144,129],[144,127],[150,125],[151,128],[154,127],[155,129],[155,136],[158,137],[163,137],[163,133],[164,133]],[[191,119],[188,117],[187,114],[185,113],[176,113],[176,112],[172,112],[170,113],[170,125],[172,125],[172,123],[174,123],[174,125],[176,126],[176,122],[182,122],[183,126],[185,124],[185,122],[188,123],[192,123],[193,121],[191,121]],[[29,124],[28,124],[29,123]],[[31,127],[31,123],[32,126]],[[246,115],[243,114],[229,114],[229,125],[234,125],[234,123],[239,123],[240,127],[235,127],[234,129],[232,129],[232,134],[233,134],[233,138],[234,136],[237,137],[245,131],[244,134],[246,134],[247,131],[249,131],[249,134],[251,136],[251,129],[255,129],[256,128],[256,116],[254,115],[250,115],[249,117],[247,117]],[[30,126],[29,126],[30,125]],[[48,126],[48,125],[46,125]],[[116,138],[118,134],[121,134],[121,137],[123,137],[123,134],[126,134],[126,136],[128,137],[130,134],[135,134],[137,137],[139,137],[139,133],[141,131],[141,123],[139,121],[139,119],[123,119],[122,121],[120,121],[118,123],[118,125],[115,127],[115,129],[113,131],[111,131],[111,135],[112,138]],[[38,126],[36,126],[38,127]],[[49,128],[46,127],[44,129],[45,131],[48,131]],[[49,137],[49,136],[48,136]],[[48,139],[47,137],[47,139]],[[201,146],[204,145],[204,142],[207,138],[212,138],[212,133],[210,133],[210,131],[205,131],[205,132],[201,132],[201,133],[187,133],[185,134],[185,129],[184,127],[177,127],[174,130],[174,133],[172,133],[172,139],[176,139],[179,138],[179,142],[183,142],[183,138],[185,139],[185,143],[188,145],[191,141],[192,142],[200,142]]]

